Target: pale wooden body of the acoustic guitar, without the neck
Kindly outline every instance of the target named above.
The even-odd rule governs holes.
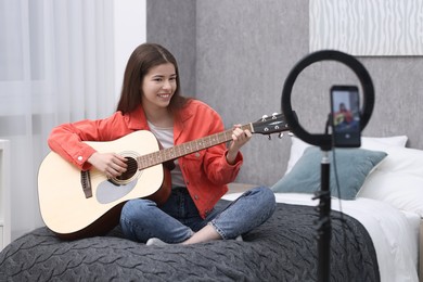
[[[158,142],[150,131],[136,131],[111,142],[87,142],[97,151],[116,152],[125,157],[137,157],[158,151]],[[125,151],[121,151],[125,149]],[[137,169],[138,170],[138,169]],[[38,197],[46,226],[62,239],[100,235],[119,222],[125,202],[139,197],[152,197],[168,191],[159,191],[165,175],[163,165],[138,170],[124,183],[113,183],[97,169],[89,171],[91,196],[81,184],[81,171],[59,154],[51,152],[39,168]],[[169,180],[166,180],[169,184]]]

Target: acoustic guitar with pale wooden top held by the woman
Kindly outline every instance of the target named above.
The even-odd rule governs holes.
[[[273,114],[244,125],[242,129],[271,134],[286,131],[289,126],[282,114]],[[152,132],[139,130],[110,142],[86,142],[98,152],[116,152],[127,159],[127,171],[112,179],[95,168],[81,171],[50,152],[38,174],[41,217],[61,239],[102,235],[118,225],[127,201],[151,198],[159,205],[167,200],[170,194],[167,162],[230,140],[232,129],[161,149]]]

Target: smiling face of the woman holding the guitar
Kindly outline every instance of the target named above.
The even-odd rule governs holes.
[[[142,105],[151,110],[167,107],[177,87],[174,64],[166,63],[152,67],[142,80]]]

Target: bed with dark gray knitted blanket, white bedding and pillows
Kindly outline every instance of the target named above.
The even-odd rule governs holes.
[[[123,239],[118,227],[104,236],[62,241],[42,227],[0,253],[0,281],[317,281],[312,195],[319,167],[310,164],[320,152],[292,140],[289,169],[272,187],[275,213],[243,241],[146,246]],[[333,191],[331,281],[419,281],[423,152],[406,149],[406,137],[363,138],[357,152],[370,155],[348,155],[347,172],[337,163],[338,182],[354,179],[348,187],[355,189]],[[351,159],[371,164],[354,176]],[[308,190],[290,191],[297,180],[309,181]],[[218,205],[254,185],[232,184]]]

